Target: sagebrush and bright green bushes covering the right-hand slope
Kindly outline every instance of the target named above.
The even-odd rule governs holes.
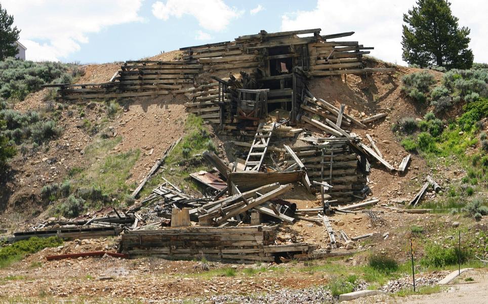
[[[440,202],[426,203],[424,207],[455,208],[453,212],[457,212],[469,204],[466,210],[475,208],[477,211],[469,214],[476,218],[488,213],[475,207],[487,204],[488,66],[452,69],[442,75],[438,85],[427,70],[405,75],[402,83],[402,91],[413,102],[432,110],[423,120],[405,117],[394,125],[402,146],[418,153],[432,168],[440,162],[466,170],[466,175],[450,186]],[[454,116],[456,113],[459,114]]]

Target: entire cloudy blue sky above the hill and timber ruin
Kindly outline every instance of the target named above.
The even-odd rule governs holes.
[[[488,2],[451,0],[471,28],[475,61],[488,62]],[[345,40],[373,46],[371,55],[401,60],[402,14],[415,0],[2,0],[22,30],[31,60],[103,63],[233,40],[239,35],[321,28],[355,31]],[[469,5],[467,5],[469,4]]]

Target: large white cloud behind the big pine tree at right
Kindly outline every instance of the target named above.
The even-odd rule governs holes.
[[[485,0],[451,0],[453,14],[459,17],[460,26],[471,28],[470,48],[476,62],[488,62],[488,22]],[[401,59],[401,34],[403,14],[415,5],[415,0],[391,1],[328,1],[318,0],[311,11],[298,11],[281,17],[281,30],[321,28],[322,34],[355,31],[341,40],[359,41],[367,47],[375,47],[371,55],[386,61],[405,64]],[[476,8],[476,9],[473,9]]]

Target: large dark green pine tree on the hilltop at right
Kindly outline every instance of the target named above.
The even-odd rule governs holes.
[[[473,52],[468,27],[459,28],[447,0],[418,0],[403,14],[402,58],[409,64],[450,68],[470,68]]]

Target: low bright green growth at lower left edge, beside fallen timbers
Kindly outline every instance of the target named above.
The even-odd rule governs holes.
[[[13,262],[21,260],[26,254],[35,253],[48,247],[57,247],[63,241],[58,237],[37,238],[15,242],[10,246],[0,248],[0,268],[8,267]]]

